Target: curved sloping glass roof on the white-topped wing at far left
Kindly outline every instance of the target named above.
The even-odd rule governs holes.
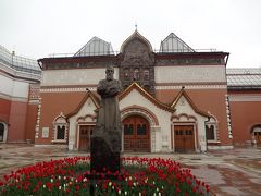
[[[0,62],[16,71],[37,75],[41,74],[41,70],[36,60],[15,56],[2,46],[0,46]]]

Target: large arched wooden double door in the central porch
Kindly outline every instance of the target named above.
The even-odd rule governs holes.
[[[140,115],[123,120],[124,151],[150,151],[149,122]]]

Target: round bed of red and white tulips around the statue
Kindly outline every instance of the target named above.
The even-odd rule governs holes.
[[[209,195],[209,186],[179,163],[161,158],[122,158],[116,180],[89,180],[89,157],[64,158],[26,167],[0,181],[0,195]],[[104,173],[113,175],[104,168]],[[105,176],[105,175],[104,175]]]

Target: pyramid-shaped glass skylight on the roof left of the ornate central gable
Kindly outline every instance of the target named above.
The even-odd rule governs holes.
[[[112,46],[98,37],[92,37],[74,57],[114,54]]]

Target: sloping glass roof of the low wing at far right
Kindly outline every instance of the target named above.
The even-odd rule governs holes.
[[[228,87],[261,88],[261,69],[227,69]]]

